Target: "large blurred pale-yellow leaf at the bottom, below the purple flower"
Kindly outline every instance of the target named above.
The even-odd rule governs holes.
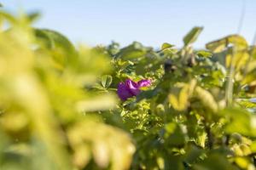
[[[91,130],[92,127],[93,130]],[[86,150],[80,150],[80,148],[85,146],[90,148],[94,161],[101,167],[96,169],[105,169],[109,165],[113,170],[130,167],[135,147],[131,143],[130,136],[117,127],[87,120],[69,128],[67,138],[77,153],[78,162],[83,161],[82,154]],[[88,153],[90,152],[87,150]]]

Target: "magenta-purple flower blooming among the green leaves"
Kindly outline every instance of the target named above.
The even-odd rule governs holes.
[[[119,82],[117,93],[119,98],[125,101],[126,99],[139,94],[141,92],[140,88],[148,87],[150,85],[150,80],[133,82],[131,79],[126,79],[125,82]]]

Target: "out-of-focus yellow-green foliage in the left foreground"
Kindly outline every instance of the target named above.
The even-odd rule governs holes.
[[[23,17],[1,15],[11,25],[0,32],[0,169],[127,169],[131,138],[96,114],[116,98],[90,89],[108,57]]]

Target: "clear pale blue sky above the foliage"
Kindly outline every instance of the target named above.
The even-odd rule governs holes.
[[[195,48],[237,33],[244,0],[0,0],[4,8],[41,11],[37,27],[60,31],[73,42],[121,45],[133,41],[160,47],[183,45],[193,26],[204,26]],[[256,31],[256,0],[246,0],[241,35],[252,42]]]

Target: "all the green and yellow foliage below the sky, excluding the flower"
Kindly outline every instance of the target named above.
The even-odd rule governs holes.
[[[1,12],[0,169],[255,169],[256,50],[238,35],[160,50],[75,47]],[[11,40],[11,41],[10,41]],[[120,101],[119,82],[150,79]]]

